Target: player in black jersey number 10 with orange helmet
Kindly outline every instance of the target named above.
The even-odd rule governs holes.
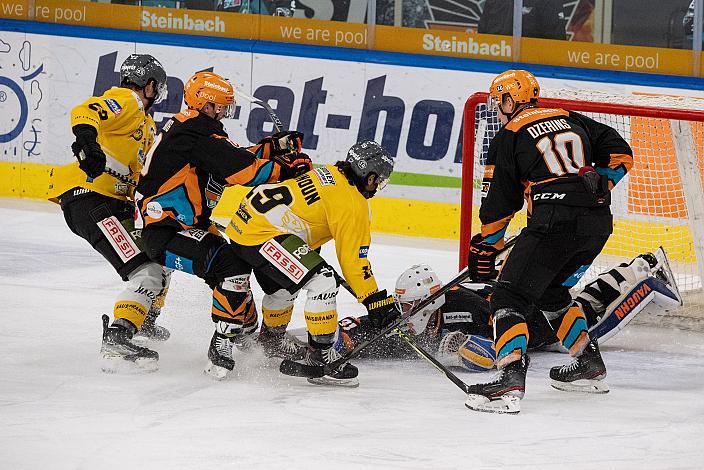
[[[550,370],[553,387],[608,391],[597,342],[565,281],[585,270],[606,244],[613,230],[610,190],[632,167],[633,153],[613,128],[564,109],[541,108],[539,95],[538,81],[523,70],[498,75],[489,92],[490,109],[503,127],[489,146],[481,232],[471,239],[468,268],[474,281],[498,276],[491,315],[499,372],[470,387],[466,405],[479,411],[518,411],[528,367],[526,319],[533,306],[574,357]],[[493,260],[524,197],[528,224],[499,275]]]

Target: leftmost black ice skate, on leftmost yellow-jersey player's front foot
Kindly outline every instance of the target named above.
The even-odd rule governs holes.
[[[103,344],[100,348],[103,372],[152,372],[159,368],[159,353],[132,343],[132,331],[124,325],[108,327],[103,315]]]

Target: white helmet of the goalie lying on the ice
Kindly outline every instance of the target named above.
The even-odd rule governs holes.
[[[406,269],[396,280],[394,292],[396,305],[401,313],[408,312],[441,287],[442,282],[433,268],[427,264],[416,264]],[[408,325],[413,332],[420,334],[425,331],[431,314],[444,303],[445,296],[442,295],[409,318]]]

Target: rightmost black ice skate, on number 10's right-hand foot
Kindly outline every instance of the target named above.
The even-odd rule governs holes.
[[[550,369],[552,386],[566,392],[607,393],[606,366],[595,340],[571,363]]]

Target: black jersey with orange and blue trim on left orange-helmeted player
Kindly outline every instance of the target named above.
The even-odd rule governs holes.
[[[280,167],[232,142],[220,121],[194,110],[175,115],[157,136],[137,186],[138,228],[207,228],[226,186],[278,181]]]

